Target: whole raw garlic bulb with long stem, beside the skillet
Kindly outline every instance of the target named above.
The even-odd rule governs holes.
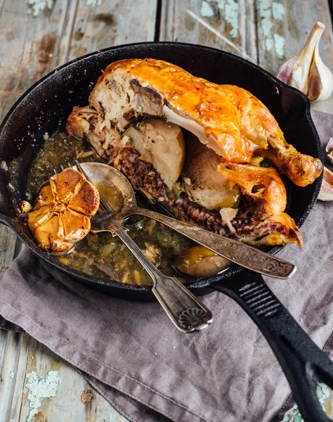
[[[311,101],[326,100],[333,91],[333,75],[319,55],[319,41],[325,25],[317,22],[308,36],[303,51],[287,60],[278,70],[277,77],[297,88]]]

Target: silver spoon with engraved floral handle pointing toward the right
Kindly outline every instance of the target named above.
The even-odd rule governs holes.
[[[165,224],[192,241],[212,250],[217,255],[266,276],[277,279],[289,279],[296,271],[296,265],[280,260],[280,258],[269,255],[262,250],[252,248],[252,246],[225,236],[211,233],[211,231],[200,229],[200,227],[192,224],[166,217],[158,212],[138,207],[131,184],[122,173],[110,165],[100,162],[85,162],[81,164],[81,167],[87,176],[93,180],[94,184],[107,182],[112,186],[116,186],[122,192],[124,203],[121,209],[116,211],[123,218],[131,215],[143,215],[155,219],[157,222]]]

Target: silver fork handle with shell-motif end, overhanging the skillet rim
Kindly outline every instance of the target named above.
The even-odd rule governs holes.
[[[179,331],[191,333],[192,331],[202,330],[211,323],[213,318],[209,309],[195,295],[192,295],[180,281],[173,277],[164,276],[145,257],[138,245],[120,224],[110,224],[109,229],[113,234],[117,234],[151,276],[154,283],[152,293]]]

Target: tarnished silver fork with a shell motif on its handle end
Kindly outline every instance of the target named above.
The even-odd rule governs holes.
[[[89,181],[98,189],[99,179],[89,173],[91,164],[80,165],[76,161],[77,170],[79,170]],[[89,168],[87,168],[89,167]],[[99,190],[99,189],[98,189]],[[176,328],[183,333],[200,331],[206,328],[213,321],[211,312],[203,303],[193,295],[180,281],[174,277],[165,276],[159,269],[153,265],[144,255],[142,250],[136,245],[122,226],[123,217],[119,215],[110,204],[100,194],[100,209],[98,215],[91,219],[91,231],[99,233],[101,231],[110,231],[117,235],[122,242],[141,263],[148,272],[153,281],[152,293],[162,305],[169,319]]]

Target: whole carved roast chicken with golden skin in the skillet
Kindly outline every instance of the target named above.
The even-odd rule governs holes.
[[[177,125],[192,133],[185,148]],[[98,79],[89,107],[73,109],[67,132],[86,136],[134,188],[185,221],[253,245],[301,245],[284,214],[280,174],[260,162],[270,158],[299,186],[313,183],[322,163],[290,146],[245,89],[162,60],[119,60]]]

